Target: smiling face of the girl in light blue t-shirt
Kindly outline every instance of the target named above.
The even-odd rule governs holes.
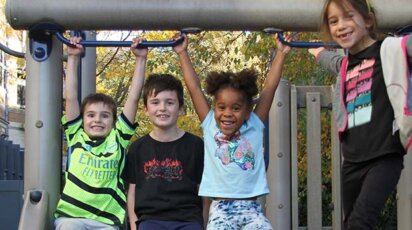
[[[220,132],[229,136],[249,118],[250,106],[239,90],[224,88],[216,94],[214,111]]]

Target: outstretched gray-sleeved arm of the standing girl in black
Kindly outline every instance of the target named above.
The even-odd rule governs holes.
[[[331,71],[332,73],[339,74],[340,67],[342,66],[343,55],[329,51],[324,47],[308,49],[309,53],[312,54],[316,62],[323,68]]]

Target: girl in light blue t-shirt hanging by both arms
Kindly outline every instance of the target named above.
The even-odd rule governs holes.
[[[205,167],[199,195],[213,199],[207,229],[272,229],[256,201],[258,196],[269,193],[263,122],[268,117],[290,47],[277,42],[278,52],[253,111],[253,97],[258,93],[254,71],[211,73],[206,79],[206,92],[214,99],[211,109],[187,53],[187,37],[183,36],[184,42],[174,50],[202,122]]]

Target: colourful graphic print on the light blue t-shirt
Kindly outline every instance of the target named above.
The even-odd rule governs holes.
[[[240,136],[239,131],[230,137],[217,132],[214,139],[218,146],[215,156],[220,159],[223,165],[233,162],[243,170],[254,169],[255,158],[252,146],[247,139]]]

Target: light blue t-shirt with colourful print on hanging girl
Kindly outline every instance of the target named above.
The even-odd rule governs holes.
[[[202,122],[205,161],[199,195],[249,198],[269,193],[263,156],[264,124],[255,113],[227,140],[219,131],[214,111]]]

